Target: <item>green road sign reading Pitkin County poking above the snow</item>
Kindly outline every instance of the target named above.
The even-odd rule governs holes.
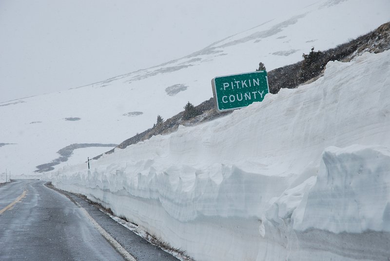
[[[246,107],[262,101],[270,92],[266,71],[218,76],[211,80],[211,84],[218,111]]]

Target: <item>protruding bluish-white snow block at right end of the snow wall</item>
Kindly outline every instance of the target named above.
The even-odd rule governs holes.
[[[389,148],[329,147],[323,162],[325,167],[300,206],[304,215],[295,219],[294,228],[390,232]]]

